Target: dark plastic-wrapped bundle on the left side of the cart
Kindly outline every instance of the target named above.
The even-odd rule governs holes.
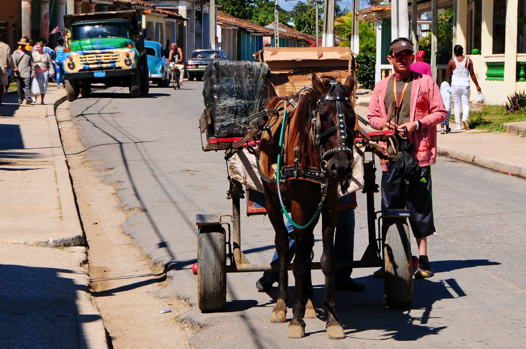
[[[244,136],[249,117],[261,111],[268,99],[269,77],[265,63],[244,60],[209,64],[203,77],[205,107],[211,116],[207,138]]]

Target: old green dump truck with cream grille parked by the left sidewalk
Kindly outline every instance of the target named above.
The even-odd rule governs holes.
[[[131,97],[147,95],[146,29],[137,12],[111,11],[64,16],[64,79],[69,101],[89,96],[92,84],[128,87]]]

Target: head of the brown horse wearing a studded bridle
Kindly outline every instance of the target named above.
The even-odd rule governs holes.
[[[321,150],[321,163],[335,181],[343,181],[352,173],[352,147],[356,132],[356,114],[352,107],[355,79],[349,75],[345,84],[332,77],[312,74],[312,94],[316,96],[314,115],[316,143]]]

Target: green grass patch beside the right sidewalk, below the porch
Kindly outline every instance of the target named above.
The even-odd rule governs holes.
[[[526,108],[507,112],[503,106],[483,106],[482,110],[470,110],[469,126],[489,132],[505,131],[501,124],[526,121]]]

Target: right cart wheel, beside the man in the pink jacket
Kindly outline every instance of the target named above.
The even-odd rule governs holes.
[[[385,267],[383,289],[386,294],[386,302],[391,308],[407,307],[413,301],[409,228],[407,222],[402,220],[391,221],[387,224],[390,225],[383,244]]]

